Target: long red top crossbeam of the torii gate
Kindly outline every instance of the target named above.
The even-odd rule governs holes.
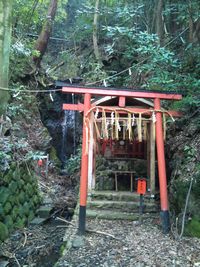
[[[124,97],[137,97],[137,98],[160,98],[168,100],[180,100],[180,94],[166,94],[166,93],[152,93],[152,92],[137,92],[137,91],[120,91],[120,90],[104,90],[98,88],[81,88],[81,87],[63,87],[63,93],[76,93],[76,94],[91,94],[103,96],[124,96]]]

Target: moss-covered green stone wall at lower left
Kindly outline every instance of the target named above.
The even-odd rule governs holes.
[[[0,242],[23,228],[41,203],[37,178],[26,164],[0,174]]]

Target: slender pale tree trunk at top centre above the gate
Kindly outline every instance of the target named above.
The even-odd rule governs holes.
[[[93,22],[93,47],[96,60],[100,63],[100,53],[98,47],[98,18],[99,18],[99,0],[95,3],[94,22]]]

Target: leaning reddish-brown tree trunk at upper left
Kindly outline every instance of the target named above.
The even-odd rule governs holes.
[[[37,67],[40,65],[42,57],[47,49],[53,22],[57,11],[57,4],[58,0],[51,0],[47,13],[47,19],[42,27],[42,31],[35,44],[35,50],[39,52],[39,56],[34,56],[33,61],[35,62]]]

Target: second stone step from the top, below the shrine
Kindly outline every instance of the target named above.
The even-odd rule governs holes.
[[[113,200],[89,200],[87,203],[88,209],[104,209],[123,212],[138,212],[139,202],[136,201],[113,201]],[[144,202],[144,212],[157,212],[158,207],[154,203]]]

